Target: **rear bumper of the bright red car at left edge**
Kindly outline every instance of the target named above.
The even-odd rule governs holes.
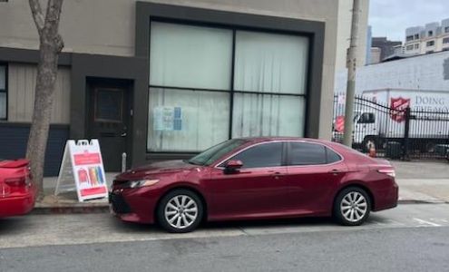
[[[20,196],[0,198],[0,218],[20,216],[34,208],[35,189]]]

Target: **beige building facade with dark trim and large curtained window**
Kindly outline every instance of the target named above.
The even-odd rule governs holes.
[[[65,1],[46,174],[67,139],[99,139],[112,171],[123,152],[131,167],[235,137],[330,139],[342,2]],[[14,158],[33,114],[38,37],[28,1],[0,3],[0,24],[0,157]]]

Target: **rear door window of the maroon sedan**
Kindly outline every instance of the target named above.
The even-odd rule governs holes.
[[[316,165],[325,164],[325,146],[317,143],[292,141],[288,148],[289,165]]]

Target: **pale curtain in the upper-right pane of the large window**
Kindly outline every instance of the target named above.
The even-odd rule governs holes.
[[[306,37],[237,31],[234,90],[304,94],[307,55]]]

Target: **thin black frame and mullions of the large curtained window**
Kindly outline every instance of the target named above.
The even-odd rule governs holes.
[[[165,18],[165,17],[158,17],[158,16],[151,16],[149,20],[149,38],[151,39],[151,23],[157,22],[157,23],[166,23],[166,24],[181,24],[181,25],[192,25],[192,26],[202,26],[202,27],[209,27],[209,28],[220,28],[220,29],[228,29],[232,31],[232,53],[231,53],[231,71],[230,71],[230,78],[229,78],[229,90],[220,90],[220,89],[204,89],[204,88],[191,88],[191,87],[179,87],[179,86],[161,86],[161,85],[153,85],[148,82],[148,97],[150,97],[151,88],[160,88],[160,89],[176,89],[176,90],[186,90],[186,91],[202,91],[202,92],[226,92],[229,93],[229,128],[228,128],[228,139],[233,139],[232,137],[232,125],[233,125],[233,110],[234,110],[234,97],[236,93],[244,93],[244,94],[258,94],[258,95],[276,95],[278,97],[280,96],[295,96],[295,97],[301,97],[305,101],[305,107],[304,107],[304,123],[303,131],[304,135],[298,135],[298,137],[304,137],[307,133],[307,119],[308,119],[308,103],[309,103],[309,97],[310,97],[310,89],[311,89],[311,76],[312,76],[312,63],[313,63],[313,49],[314,49],[314,39],[313,34],[307,34],[307,33],[300,33],[300,32],[294,32],[294,31],[288,31],[288,30],[274,30],[274,29],[268,29],[268,28],[261,28],[261,27],[251,27],[251,26],[243,26],[238,24],[216,24],[216,23],[206,23],[206,22],[200,22],[200,21],[190,21],[190,20],[182,20],[182,19],[176,19],[176,18]],[[235,57],[236,57],[236,34],[238,31],[249,31],[249,32],[257,32],[262,34],[286,34],[286,35],[294,35],[294,36],[300,36],[307,38],[307,61],[306,61],[306,74],[305,74],[305,90],[303,93],[290,93],[290,92],[254,92],[254,91],[241,91],[241,90],[235,90],[234,88],[234,73],[235,73]],[[149,44],[151,44],[151,41],[149,40]],[[151,73],[150,70],[150,63],[151,63],[151,48],[148,48],[148,69],[149,73]],[[167,90],[170,92],[170,90]],[[148,104],[148,106],[150,106]],[[200,151],[151,151],[148,149],[148,137],[149,137],[149,117],[147,116],[147,130],[146,130],[146,153],[147,154],[195,154]]]

